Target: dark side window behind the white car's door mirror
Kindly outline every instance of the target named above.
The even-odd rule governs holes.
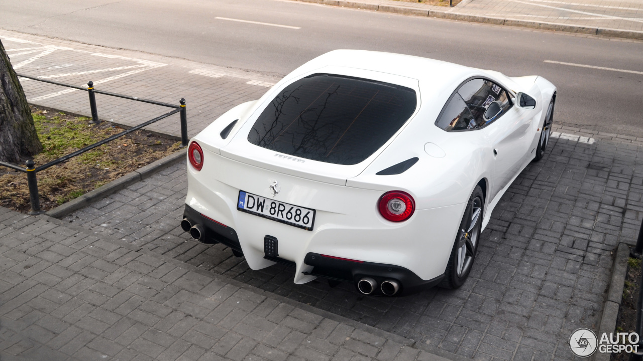
[[[485,112],[494,101],[499,106],[494,105],[494,109],[502,109],[502,111],[496,116],[487,118],[489,114],[485,114]],[[454,109],[460,109],[462,105],[464,105],[467,111],[462,110],[458,112],[458,114],[462,114],[460,118],[469,116],[466,124],[462,123],[459,119],[455,121],[455,118],[451,118],[455,114]],[[502,89],[500,85],[486,79],[469,80],[469,82],[458,89],[451,101],[449,101],[437,125],[447,131],[484,127],[500,118],[500,116],[511,108],[511,105],[507,91]],[[495,110],[490,110],[490,112],[496,113]]]

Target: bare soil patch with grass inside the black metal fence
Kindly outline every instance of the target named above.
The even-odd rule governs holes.
[[[44,150],[33,161],[36,167],[122,132],[113,123],[90,124],[91,119],[31,107],[33,122]],[[49,210],[80,197],[122,175],[179,150],[181,143],[136,130],[69,161],[37,173],[41,208]],[[24,167],[23,164],[17,164]],[[30,211],[27,177],[0,166],[0,205]]]

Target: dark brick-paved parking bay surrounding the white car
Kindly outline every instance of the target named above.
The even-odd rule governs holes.
[[[293,270],[282,265],[250,270],[230,249],[195,242],[179,227],[184,163],[63,219],[461,357],[570,360],[571,331],[599,326],[611,251],[635,242],[643,143],[556,130],[543,161],[530,164],[496,207],[458,290],[365,297],[349,283],[294,285]]]

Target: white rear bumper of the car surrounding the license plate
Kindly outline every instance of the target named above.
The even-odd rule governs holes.
[[[294,177],[208,151],[204,157],[200,172],[188,164],[185,204],[194,212],[187,211],[186,216],[199,222],[205,218],[200,225],[204,228],[202,242],[220,242],[237,254],[242,252],[253,270],[282,262],[295,267],[296,284],[329,277],[329,272],[321,271],[328,265],[317,265],[313,271],[314,265],[305,262],[307,255],[314,253],[386,265],[387,270],[397,267],[427,283],[444,274],[466,203],[415,209],[408,220],[390,222],[377,211],[383,191]],[[276,196],[268,194],[268,185],[275,180],[280,184]],[[314,224],[311,229],[302,229],[239,211],[240,190],[314,209]],[[270,238],[278,240],[278,258],[266,257],[264,243]],[[353,273],[359,274],[359,269],[351,269],[351,277]],[[422,283],[417,279],[409,282],[410,286]]]

